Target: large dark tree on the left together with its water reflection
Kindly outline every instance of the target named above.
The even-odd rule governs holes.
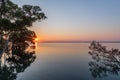
[[[39,6],[19,7],[12,0],[0,0],[0,80],[15,80],[36,59],[27,51],[37,37],[29,28],[46,19]]]

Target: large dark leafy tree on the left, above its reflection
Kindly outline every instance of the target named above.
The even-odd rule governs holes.
[[[46,19],[39,6],[23,5],[19,7],[10,0],[0,2],[0,43],[31,42],[37,37],[29,30],[34,22]]]

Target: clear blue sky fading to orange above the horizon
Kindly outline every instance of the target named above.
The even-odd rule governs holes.
[[[120,0],[12,0],[38,5],[48,17],[35,23],[40,40],[120,40]]]

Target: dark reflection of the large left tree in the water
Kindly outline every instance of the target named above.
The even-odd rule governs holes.
[[[14,44],[5,51],[0,48],[0,80],[15,80],[18,73],[24,72],[35,61],[35,51],[27,48],[24,43]]]

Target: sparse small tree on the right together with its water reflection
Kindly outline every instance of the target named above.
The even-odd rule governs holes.
[[[120,51],[118,49],[107,50],[99,42],[93,41],[89,54],[92,60],[89,62],[90,72],[93,77],[106,77],[108,74],[118,75],[120,71]]]

